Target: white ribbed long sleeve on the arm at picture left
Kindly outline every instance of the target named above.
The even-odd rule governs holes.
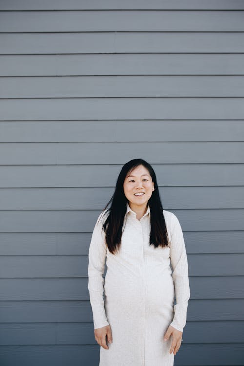
[[[103,212],[102,212],[103,213]],[[106,260],[105,233],[102,230],[103,218],[99,215],[95,224],[89,247],[88,290],[92,306],[94,329],[109,325],[104,307],[104,274]]]

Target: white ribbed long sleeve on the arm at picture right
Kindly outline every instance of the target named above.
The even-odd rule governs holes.
[[[174,318],[170,325],[182,332],[184,326],[186,325],[188,300],[190,298],[190,286],[183,232],[179,220],[174,214],[172,227],[170,261],[172,267],[172,278],[175,287],[176,304],[174,305]]]

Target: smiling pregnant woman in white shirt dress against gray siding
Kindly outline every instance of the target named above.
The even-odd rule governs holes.
[[[163,210],[143,159],[122,167],[98,217],[88,277],[99,366],[172,366],[190,298],[187,255],[180,223]]]

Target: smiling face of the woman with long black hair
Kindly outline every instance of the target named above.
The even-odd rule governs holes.
[[[123,189],[131,208],[133,206],[144,207],[154,191],[154,182],[149,171],[143,165],[139,165],[127,174]],[[143,194],[137,195],[141,192]]]

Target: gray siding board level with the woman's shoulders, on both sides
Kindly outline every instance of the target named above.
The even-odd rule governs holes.
[[[242,209],[166,208],[178,217],[183,231],[243,230]],[[100,210],[0,211],[0,232],[91,232],[100,212]]]

